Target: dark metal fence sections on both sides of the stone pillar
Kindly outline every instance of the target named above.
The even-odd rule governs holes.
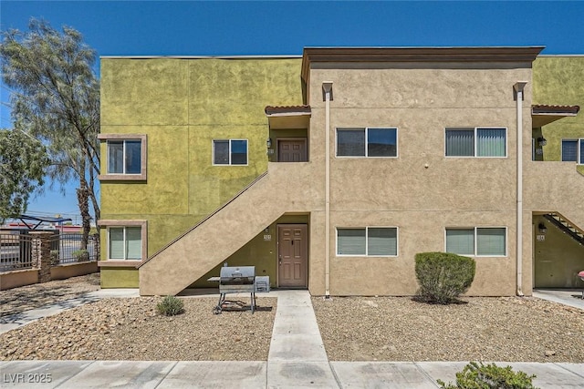
[[[33,235],[26,230],[0,233],[0,271],[16,271],[35,267],[34,258],[38,250],[33,245]],[[99,249],[97,237],[89,235],[87,248],[82,247],[82,235],[78,233],[56,232],[50,237],[50,263],[57,266],[65,263],[98,261]],[[35,254],[35,255],[33,255]]]

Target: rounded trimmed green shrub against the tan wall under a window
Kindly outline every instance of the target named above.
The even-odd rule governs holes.
[[[474,280],[474,260],[449,252],[416,254],[416,300],[449,304],[468,290]]]

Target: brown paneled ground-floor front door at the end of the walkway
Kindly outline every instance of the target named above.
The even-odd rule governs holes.
[[[278,224],[278,286],[308,286],[308,225]]]

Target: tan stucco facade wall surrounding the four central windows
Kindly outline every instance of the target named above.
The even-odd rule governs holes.
[[[324,163],[321,85],[333,82],[331,102],[331,294],[416,292],[414,255],[444,251],[447,227],[506,227],[506,257],[477,257],[469,294],[515,294],[516,102],[513,86],[531,80],[528,64],[452,67],[440,64],[327,64],[312,69],[312,162]],[[436,67],[436,68],[431,68]],[[458,68],[457,68],[458,67]],[[462,68],[461,68],[462,67]],[[482,68],[481,68],[482,67]],[[531,86],[523,102],[524,144],[530,144]],[[336,158],[335,128],[398,128],[398,158]],[[507,128],[507,157],[445,158],[444,128]],[[320,128],[323,128],[322,130]],[[525,152],[529,155],[529,149]],[[427,166],[427,167],[426,167]],[[336,256],[336,228],[397,226],[397,257]],[[530,220],[524,223],[529,230]],[[312,241],[324,236],[312,229]],[[531,283],[530,235],[524,283]],[[314,261],[314,255],[311,256]],[[315,292],[322,291],[318,284]],[[311,289],[311,292],[313,290]],[[527,291],[529,292],[529,291]]]

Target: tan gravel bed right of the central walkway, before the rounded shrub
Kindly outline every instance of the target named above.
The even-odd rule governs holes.
[[[331,361],[584,363],[584,311],[532,297],[313,298]]]

